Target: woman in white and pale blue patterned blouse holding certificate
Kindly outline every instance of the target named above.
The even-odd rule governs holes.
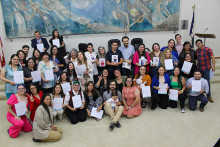
[[[43,60],[38,64],[38,70],[41,72],[41,87],[44,93],[52,93],[53,87],[56,83],[56,72],[59,71],[58,67],[53,61],[49,60],[49,53],[43,52]]]

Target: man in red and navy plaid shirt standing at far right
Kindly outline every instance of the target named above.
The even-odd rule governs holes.
[[[201,39],[196,40],[196,55],[198,57],[197,69],[201,71],[204,79],[208,81],[209,84],[209,93],[207,94],[208,100],[211,103],[214,103],[214,100],[211,97],[211,86],[210,86],[210,69],[215,71],[215,57],[211,48],[203,45]],[[212,60],[212,63],[211,63]]]

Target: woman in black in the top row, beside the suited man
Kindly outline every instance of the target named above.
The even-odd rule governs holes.
[[[63,36],[59,35],[58,30],[54,30],[52,36],[53,37],[49,40],[50,45],[56,45],[58,47],[58,55],[63,58],[66,56],[66,48],[63,41]]]

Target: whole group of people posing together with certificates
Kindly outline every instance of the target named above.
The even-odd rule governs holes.
[[[158,43],[152,45],[148,53],[144,44],[139,44],[137,50],[129,44],[129,38],[122,38],[119,47],[117,41],[111,43],[106,50],[103,46],[95,52],[92,43],[88,43],[87,51],[72,49],[67,55],[63,37],[54,30],[49,44],[46,38],[35,32],[31,40],[34,48],[29,56],[29,46],[13,54],[9,64],[1,71],[1,80],[5,84],[7,102],[7,120],[12,124],[8,134],[16,138],[20,131],[29,132],[33,129],[33,141],[58,141],[62,129],[54,126],[57,119],[66,115],[72,124],[84,122],[87,116],[92,116],[93,108],[97,112],[104,110],[111,117],[109,129],[120,128],[121,116],[134,118],[142,113],[151,100],[151,109],[159,106],[177,108],[180,101],[181,112],[185,112],[185,100],[189,97],[190,110],[196,110],[197,101],[201,101],[199,110],[204,111],[205,105],[214,102],[210,90],[210,70],[215,70],[215,58],[212,50],[196,41],[196,50],[190,42],[181,42],[181,35],[176,34],[175,40],[170,39],[168,46],[160,49]],[[54,41],[56,40],[56,41]],[[57,41],[59,40],[59,41]],[[57,44],[57,42],[59,44]],[[56,44],[56,45],[55,45]],[[167,60],[171,60],[167,68]],[[190,62],[190,72],[182,67]],[[53,72],[51,80],[46,74]],[[15,71],[23,71],[24,84],[14,82]],[[41,81],[33,82],[32,72],[40,71]],[[193,91],[194,81],[201,81],[200,91]],[[69,84],[70,91],[63,89],[63,84]],[[161,85],[166,84],[165,93],[160,93]],[[143,97],[143,86],[150,86],[151,97]],[[178,91],[178,99],[169,98],[170,90]],[[54,109],[55,99],[61,98],[62,109]],[[74,98],[80,98],[82,105],[74,107]],[[26,114],[30,111],[30,120],[26,115],[18,116],[15,105],[26,103]]]

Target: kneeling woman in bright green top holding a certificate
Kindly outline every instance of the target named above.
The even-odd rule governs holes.
[[[178,90],[178,92],[176,91],[178,94],[178,97],[171,98],[171,96],[170,96],[169,106],[171,108],[176,108],[177,101],[179,99],[181,112],[184,113],[185,112],[185,109],[184,109],[185,99],[186,99],[186,93],[185,93],[186,81],[185,81],[185,78],[183,76],[181,76],[179,67],[175,67],[173,75],[170,76],[170,90],[171,89]]]

